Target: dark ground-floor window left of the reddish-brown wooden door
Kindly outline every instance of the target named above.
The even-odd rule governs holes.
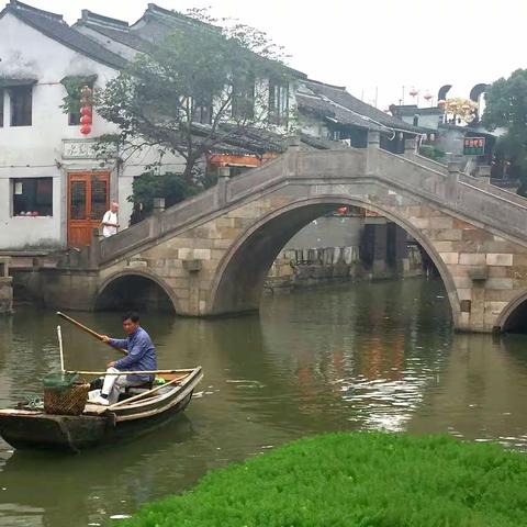
[[[12,179],[13,216],[53,216],[53,178]]]

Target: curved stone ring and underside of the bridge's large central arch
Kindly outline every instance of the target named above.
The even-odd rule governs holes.
[[[456,324],[460,317],[457,289],[448,267],[431,242],[402,215],[366,200],[338,194],[296,200],[270,212],[247,228],[217,267],[211,288],[210,314],[257,310],[267,272],[287,242],[310,222],[339,205],[373,211],[404,228],[422,245],[442,279]]]

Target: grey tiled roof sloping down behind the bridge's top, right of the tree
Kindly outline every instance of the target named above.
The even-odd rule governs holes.
[[[346,88],[344,87],[325,85],[315,80],[305,80],[303,83],[313,93],[325,97],[340,106],[344,106],[359,115],[363,115],[372,122],[380,123],[389,128],[404,130],[414,133],[422,132],[421,128],[405,123],[402,119],[388,115],[381,110],[378,110],[360,99],[357,99],[351,93],[347,92]]]

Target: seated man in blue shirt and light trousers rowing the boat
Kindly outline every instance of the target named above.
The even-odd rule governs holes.
[[[139,326],[139,315],[137,313],[126,313],[123,316],[123,328],[127,338],[110,338],[101,335],[104,343],[114,348],[126,349],[128,354],[120,360],[114,360],[108,365],[106,373],[119,373],[126,371],[153,371],[157,370],[156,348],[152,343],[149,335]],[[152,383],[154,374],[134,373],[131,375],[105,375],[101,394],[91,400],[92,403],[109,405],[119,400],[119,394],[126,386],[139,386]]]

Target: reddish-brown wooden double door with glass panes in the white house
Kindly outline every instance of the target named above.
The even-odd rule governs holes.
[[[109,172],[68,175],[68,246],[90,245],[91,232],[110,205]]]

